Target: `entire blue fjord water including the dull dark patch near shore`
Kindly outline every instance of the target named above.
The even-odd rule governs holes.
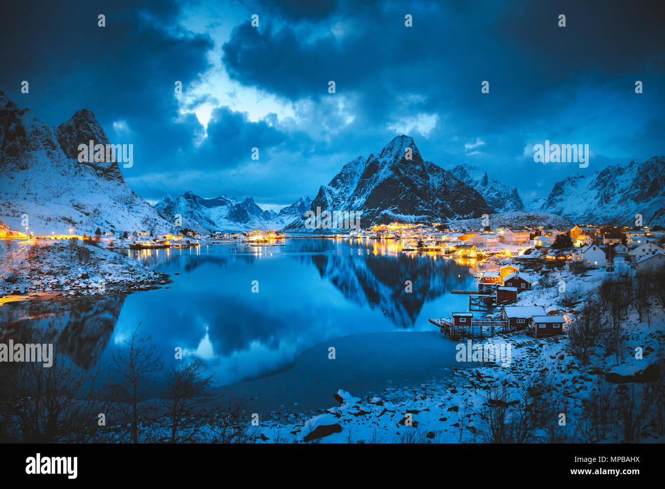
[[[455,344],[428,319],[467,310],[467,296],[450,290],[475,288],[472,270],[400,247],[293,238],[281,246],[126,251],[173,283],[33,303],[16,324],[63,329],[66,353],[87,368],[110,363],[141,323],[167,366],[181,347],[186,359],[207,365],[217,385],[260,408],[327,408],[337,389],[380,395],[445,377],[456,365]]]

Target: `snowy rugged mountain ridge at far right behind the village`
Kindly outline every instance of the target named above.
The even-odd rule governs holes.
[[[541,210],[577,223],[632,225],[641,214],[645,226],[663,225],[665,156],[566,178],[555,184]]]

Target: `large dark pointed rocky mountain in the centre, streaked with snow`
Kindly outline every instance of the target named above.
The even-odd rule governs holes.
[[[411,159],[408,159],[410,150]],[[364,228],[395,220],[438,221],[493,212],[483,197],[451,172],[424,161],[410,136],[396,136],[379,156],[348,162],[319,189],[311,210],[362,212]],[[289,231],[307,231],[295,220]]]

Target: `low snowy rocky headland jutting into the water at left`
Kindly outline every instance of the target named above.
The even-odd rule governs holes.
[[[168,276],[126,255],[80,240],[1,240],[0,297],[54,293],[63,296],[144,289]]]

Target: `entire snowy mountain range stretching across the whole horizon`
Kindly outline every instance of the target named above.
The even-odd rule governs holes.
[[[363,228],[392,221],[450,222],[483,214],[510,220],[551,220],[555,214],[576,224],[632,224],[641,214],[645,225],[665,224],[663,156],[609,166],[591,177],[571,176],[555,184],[547,199],[524,206],[516,188],[490,179],[474,166],[444,170],[422,158],[413,138],[401,135],[378,156],[359,156],[345,164],[314,200],[302,197],[278,213],[263,210],[252,198],[208,199],[193,192],[177,198],[166,195],[150,206],[132,192],[114,158],[78,161],[79,144],[90,141],[109,144],[90,110],[79,110],[51,127],[0,92],[0,222],[16,230],[27,227],[35,235],[69,229],[91,234],[96,228],[116,234],[162,234],[182,228],[307,232],[311,229],[305,226],[305,213],[319,210],[361,212]],[[520,214],[525,208],[529,212]]]

